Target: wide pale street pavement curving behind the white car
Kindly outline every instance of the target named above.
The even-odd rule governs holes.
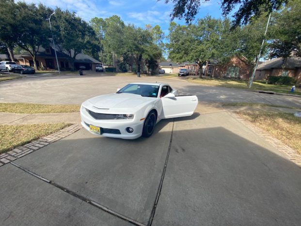
[[[166,82],[181,95],[197,95],[203,103],[252,102],[301,107],[300,97],[202,86],[184,80],[135,76],[56,76],[0,83],[0,102],[81,104],[90,97],[116,92],[130,82]]]

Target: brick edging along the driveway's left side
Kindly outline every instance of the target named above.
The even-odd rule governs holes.
[[[5,165],[11,161],[15,161],[19,158],[22,158],[25,155],[28,155],[42,147],[45,147],[53,142],[56,142],[58,140],[61,140],[62,138],[65,138],[72,133],[75,133],[79,129],[81,129],[82,126],[79,124],[74,124],[72,126],[66,127],[64,129],[61,129],[58,132],[55,132],[53,134],[50,134],[46,137],[40,138],[36,141],[32,141],[29,144],[18,146],[15,149],[8,151],[6,153],[0,154],[0,166]]]

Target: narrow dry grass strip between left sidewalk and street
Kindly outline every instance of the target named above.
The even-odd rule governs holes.
[[[71,113],[79,112],[79,108],[79,105],[0,103],[0,112],[6,113]]]

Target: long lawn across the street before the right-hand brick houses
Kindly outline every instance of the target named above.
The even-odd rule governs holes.
[[[248,81],[226,80],[226,79],[200,79],[200,78],[186,78],[186,80],[202,85],[222,86],[222,87],[237,88],[237,89],[249,89]],[[253,81],[251,89],[290,94],[291,87],[292,87],[291,85],[266,84],[265,81]],[[301,88],[296,88],[294,94],[301,95]]]

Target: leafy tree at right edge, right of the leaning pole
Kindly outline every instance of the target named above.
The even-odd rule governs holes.
[[[301,57],[301,0],[290,1],[274,15],[270,57]]]

